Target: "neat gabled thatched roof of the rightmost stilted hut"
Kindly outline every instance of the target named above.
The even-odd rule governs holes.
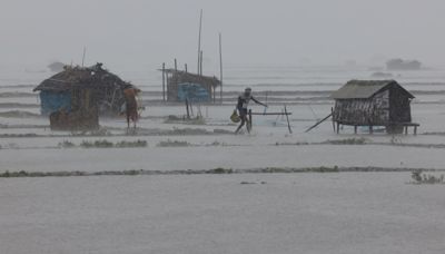
[[[414,98],[409,91],[405,90],[395,80],[350,80],[337,91],[334,91],[330,98],[334,99],[367,99],[375,94],[386,89],[388,86],[398,86],[409,98]]]

